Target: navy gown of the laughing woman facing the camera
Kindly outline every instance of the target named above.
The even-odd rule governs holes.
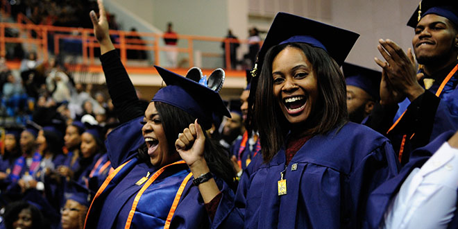
[[[226,223],[244,221],[244,228],[360,228],[368,194],[395,176],[398,164],[387,138],[348,123],[302,146],[286,167],[287,194],[278,196],[284,170],[284,147],[267,164],[256,157],[242,174],[232,219]]]

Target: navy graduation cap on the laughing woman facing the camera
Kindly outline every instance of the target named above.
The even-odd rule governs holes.
[[[336,37],[338,37],[338,42]],[[257,54],[257,60],[262,65],[266,52],[272,46],[301,42],[325,50],[340,66],[348,56],[348,53],[350,53],[358,37],[359,34],[343,28],[337,28],[286,12],[278,12],[273,19],[269,32],[267,32],[261,50]]]

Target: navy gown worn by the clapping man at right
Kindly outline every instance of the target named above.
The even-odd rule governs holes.
[[[373,120],[368,121],[367,125],[384,135],[387,134],[396,152],[400,153],[402,164],[408,162],[409,154],[414,149],[425,146],[441,133],[458,129],[458,71],[455,71],[444,85],[439,98],[435,95],[443,80],[452,73],[452,69],[457,64],[458,61],[434,74],[432,76],[435,79],[433,85],[412,103],[409,99],[405,99],[398,104],[397,111],[379,109],[379,112],[371,114]],[[404,112],[399,123],[387,133],[390,126]],[[386,120],[378,124],[380,119]],[[403,139],[405,139],[404,143],[402,143]]]

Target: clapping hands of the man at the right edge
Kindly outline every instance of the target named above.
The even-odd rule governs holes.
[[[375,58],[375,62],[382,67],[393,90],[405,94],[410,101],[423,94],[425,90],[418,83],[423,75],[416,74],[416,65],[412,49],[407,54],[391,40],[379,40],[378,51],[386,61]],[[381,89],[382,90],[382,89]]]

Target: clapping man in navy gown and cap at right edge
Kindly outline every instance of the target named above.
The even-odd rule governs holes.
[[[401,164],[414,149],[458,128],[458,1],[423,0],[407,26],[415,32],[407,54],[392,40],[379,40],[382,106],[366,122],[387,135]]]

